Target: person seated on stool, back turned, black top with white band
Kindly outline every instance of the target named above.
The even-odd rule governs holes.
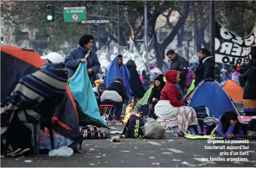
[[[120,121],[120,116],[123,110],[124,101],[127,100],[126,88],[124,87],[124,81],[122,78],[114,79],[114,82],[110,83],[110,85],[105,89],[100,100],[103,104],[112,104],[114,105],[114,110],[110,112],[113,115],[113,111],[116,114],[116,124],[122,125]],[[113,123],[113,119],[111,116],[108,118],[108,124]]]

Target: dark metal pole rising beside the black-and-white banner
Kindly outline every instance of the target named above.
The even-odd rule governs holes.
[[[215,61],[215,6],[214,6],[214,1],[211,0],[210,2],[210,22],[211,22],[211,52],[212,52],[212,56],[214,58]]]

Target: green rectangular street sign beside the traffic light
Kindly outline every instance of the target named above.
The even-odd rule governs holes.
[[[64,22],[82,22],[82,20],[86,20],[85,6],[64,8]]]

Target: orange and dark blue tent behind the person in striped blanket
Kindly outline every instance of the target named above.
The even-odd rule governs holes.
[[[42,65],[40,55],[32,50],[14,46],[1,46],[1,100],[14,90],[19,79],[36,72]],[[69,87],[66,95],[56,106],[52,117],[55,148],[69,146],[74,148],[80,139],[79,121],[75,101]],[[41,149],[51,150],[49,132],[41,130]]]

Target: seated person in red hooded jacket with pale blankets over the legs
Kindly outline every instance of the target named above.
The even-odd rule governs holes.
[[[164,121],[177,121],[179,130],[185,134],[189,125],[198,124],[196,111],[179,100],[180,91],[175,86],[180,81],[179,72],[167,71],[165,78],[167,82],[161,91],[160,101],[154,107],[154,112]]]

